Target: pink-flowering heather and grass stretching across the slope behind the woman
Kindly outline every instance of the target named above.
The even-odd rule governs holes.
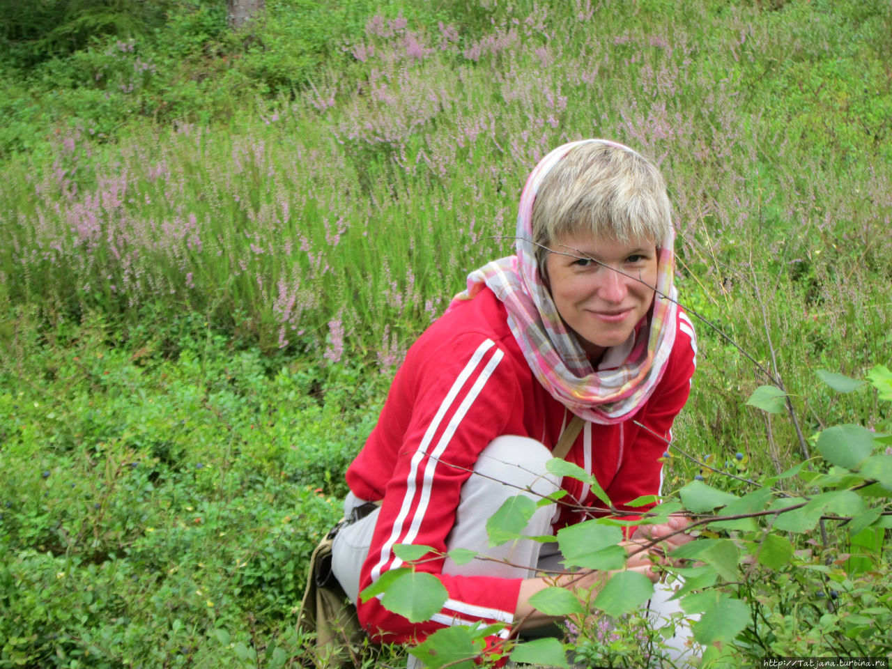
[[[655,22],[654,7],[543,6],[493,14],[480,37],[376,15],[343,75],[323,72],[226,127],[182,122],[121,145],[85,128],[46,160],[10,161],[6,291],[75,318],[155,302],[196,310],[263,351],[333,364],[356,352],[388,370],[467,270],[509,252],[516,192],[541,155],[612,136],[665,171],[685,303],[757,359],[773,350],[780,384],[814,422],[796,392],[811,376],[793,360],[855,373],[883,358],[888,128],[855,122],[851,104],[830,114],[824,100],[822,115],[860,140],[811,142],[800,128],[812,112],[778,95],[803,68],[821,87],[864,61],[866,92],[850,79],[827,86],[888,109],[877,62],[887,10],[685,4]],[[865,39],[841,37],[855,29]],[[128,48],[120,57],[136,58]],[[713,429],[697,440],[746,441],[764,420],[729,400],[767,379],[714,341],[699,381]]]

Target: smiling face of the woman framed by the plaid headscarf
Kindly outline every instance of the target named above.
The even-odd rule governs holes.
[[[597,361],[605,349],[624,343],[648,313],[657,284],[657,244],[649,238],[619,242],[581,233],[558,237],[549,248],[545,269],[551,298]]]

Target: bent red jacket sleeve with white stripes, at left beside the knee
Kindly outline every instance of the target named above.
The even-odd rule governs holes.
[[[401,376],[403,387],[393,396],[396,404],[410,407],[385,405],[379,421],[386,429],[389,411],[411,411],[360,573],[360,591],[388,570],[404,566],[393,552],[396,544],[447,549],[461,486],[479,453],[501,434],[512,404],[518,401],[519,385],[510,361],[483,335],[461,335],[437,351],[407,358],[407,365]],[[442,558],[434,558],[415,566],[434,574],[449,593],[442,610],[430,620],[412,624],[384,608],[379,598],[366,602],[360,598],[359,621],[373,640],[423,640],[450,624],[512,623],[520,579],[442,574],[442,563]],[[508,631],[502,632],[506,638]]]

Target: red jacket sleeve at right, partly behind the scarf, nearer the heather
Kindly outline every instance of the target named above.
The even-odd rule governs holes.
[[[623,425],[633,434],[631,447],[624,453],[623,462],[607,489],[607,496],[618,508],[647,510],[648,507],[627,508],[624,504],[644,495],[660,494],[663,484],[663,454],[672,441],[672,425],[690,394],[691,376],[697,365],[697,340],[694,327],[680,310],[678,331],[665,375],[648,403]],[[640,423],[640,425],[635,425]]]

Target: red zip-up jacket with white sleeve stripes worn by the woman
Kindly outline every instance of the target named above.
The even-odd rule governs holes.
[[[670,438],[673,419],[688,400],[695,356],[693,326],[679,310],[678,334],[656,391],[624,423],[587,423],[567,454],[597,477],[615,506],[660,491],[660,458],[668,446],[633,421]],[[401,565],[393,544],[446,549],[462,483],[489,442],[516,434],[554,448],[571,417],[533,376],[504,306],[489,289],[435,321],[409,349],[375,429],[347,470],[355,495],[384,500],[360,591]],[[587,485],[565,476],[563,487],[572,496],[568,499],[599,506]],[[554,529],[580,520],[565,511]],[[359,603],[359,620],[373,639],[418,641],[453,621],[514,620],[521,579],[447,575],[441,568],[442,560],[417,566],[436,575],[450,595],[430,621],[410,624],[376,598]]]

